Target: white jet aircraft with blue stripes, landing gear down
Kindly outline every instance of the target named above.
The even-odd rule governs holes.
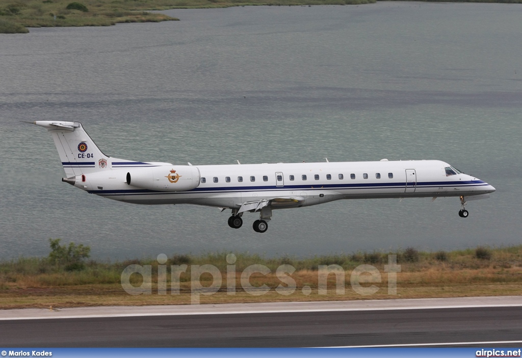
[[[259,213],[253,228],[268,229],[273,209],[339,199],[460,197],[484,199],[490,184],[441,161],[326,162],[241,165],[174,165],[133,162],[103,154],[79,122],[35,121],[52,134],[66,176],[62,181],[109,199],[134,204],[196,204],[232,210],[228,224],[243,225],[245,212]]]

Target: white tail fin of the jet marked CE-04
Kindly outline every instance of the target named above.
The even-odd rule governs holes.
[[[81,123],[38,120],[34,124],[52,134],[66,178],[89,174],[107,167],[109,157],[100,151]]]

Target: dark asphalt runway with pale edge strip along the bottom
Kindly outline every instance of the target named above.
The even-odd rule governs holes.
[[[0,319],[5,347],[522,344],[520,297],[11,310]]]

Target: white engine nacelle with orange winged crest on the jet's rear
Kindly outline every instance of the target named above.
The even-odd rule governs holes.
[[[199,186],[199,170],[188,165],[136,168],[127,172],[127,184],[160,191],[185,191]]]

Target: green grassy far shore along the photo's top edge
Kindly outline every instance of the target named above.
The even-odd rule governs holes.
[[[150,10],[255,5],[360,5],[375,2],[376,0],[80,0],[79,2],[72,0],[7,0],[0,5],[0,33],[28,33],[27,28],[31,27],[111,26],[124,22],[179,20],[164,14],[149,13]],[[437,0],[437,2],[520,4],[522,0]],[[71,6],[71,4],[79,5]]]

